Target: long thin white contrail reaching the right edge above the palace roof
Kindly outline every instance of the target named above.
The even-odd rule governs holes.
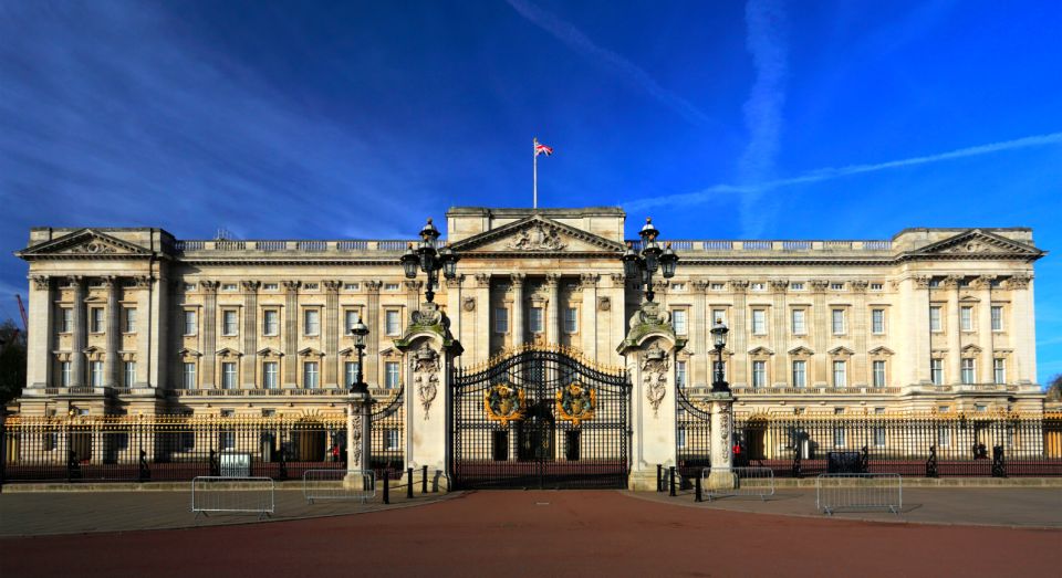
[[[787,179],[775,179],[767,182],[760,182],[754,185],[727,185],[719,183],[706,187],[698,191],[686,192],[680,195],[668,195],[664,197],[654,197],[652,199],[638,199],[629,202],[623,203],[623,206],[631,211],[644,210],[652,207],[659,206],[669,206],[676,203],[683,204],[696,204],[708,202],[716,199],[720,195],[760,195],[770,190],[779,189],[782,187],[791,187],[793,185],[804,185],[810,182],[820,182],[825,180],[837,179],[842,177],[848,177],[852,175],[862,175],[866,172],[878,172],[882,170],[898,169],[906,167],[916,167],[919,165],[928,165],[931,162],[941,162],[947,160],[955,160],[960,158],[977,157],[981,155],[990,155],[992,153],[1001,153],[1004,150],[1016,150],[1022,148],[1033,148],[1033,147],[1043,147],[1050,145],[1062,144],[1062,133],[1048,133],[1044,135],[1034,135],[1023,138],[1016,138],[1013,140],[1002,140],[999,143],[990,143],[987,145],[978,145],[974,147],[959,148],[956,150],[949,150],[947,153],[939,153],[936,155],[927,155],[923,157],[910,157],[899,160],[889,160],[886,162],[876,162],[872,165],[848,165],[846,167],[839,168],[822,168],[816,170],[811,170],[804,172],[803,175],[791,177]]]

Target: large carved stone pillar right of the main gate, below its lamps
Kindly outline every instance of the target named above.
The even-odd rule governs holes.
[[[656,490],[656,466],[675,463],[675,357],[686,339],[671,329],[658,303],[646,302],[631,317],[616,350],[625,359],[631,393],[631,474],[627,487]]]

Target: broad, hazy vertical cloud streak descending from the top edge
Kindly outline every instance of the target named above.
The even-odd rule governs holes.
[[[756,186],[774,177],[785,104],[787,23],[779,0],[749,0],[745,9],[746,48],[752,55],[756,83],[745,102],[749,143],[738,161],[738,180]],[[741,198],[741,228],[757,237],[766,216],[756,192]]]

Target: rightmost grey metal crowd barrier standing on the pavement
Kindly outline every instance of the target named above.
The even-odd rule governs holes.
[[[815,505],[827,515],[846,509],[904,507],[904,483],[899,474],[821,474],[815,480]]]

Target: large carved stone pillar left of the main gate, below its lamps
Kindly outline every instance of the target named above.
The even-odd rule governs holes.
[[[405,354],[406,467],[446,472],[449,463],[450,367],[461,344],[435,303],[415,311],[395,347]]]

